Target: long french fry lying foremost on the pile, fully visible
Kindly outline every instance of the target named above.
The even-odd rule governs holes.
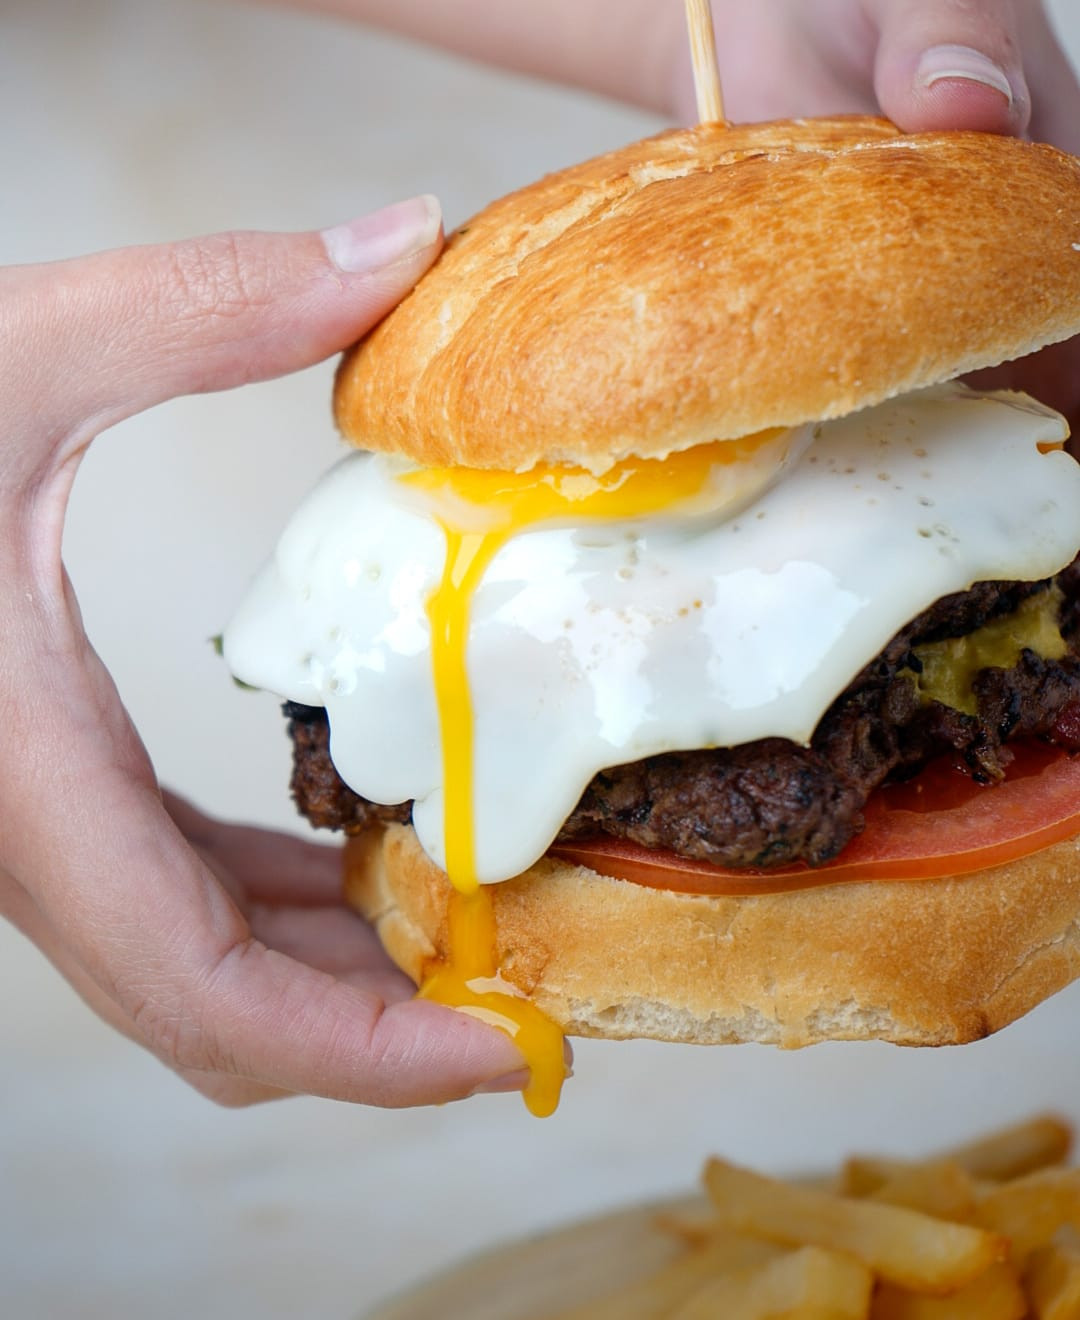
[[[846,1251],[882,1279],[918,1292],[952,1292],[1009,1253],[997,1233],[918,1210],[833,1196],[713,1159],[705,1187],[725,1226],[774,1242]]]

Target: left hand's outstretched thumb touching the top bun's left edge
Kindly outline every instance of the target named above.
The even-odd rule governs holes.
[[[321,234],[218,234],[9,268],[0,372],[18,391],[3,397],[34,436],[78,428],[84,441],[84,424],[294,371],[370,329],[441,242],[438,203],[421,197]]]

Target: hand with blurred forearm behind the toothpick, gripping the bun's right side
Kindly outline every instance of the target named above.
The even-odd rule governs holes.
[[[461,54],[696,119],[680,0],[292,0]],[[1042,0],[712,0],[734,121],[883,114],[907,132],[1027,135],[1080,154],[1080,86]],[[1080,348],[984,385],[1026,388],[1080,434]]]

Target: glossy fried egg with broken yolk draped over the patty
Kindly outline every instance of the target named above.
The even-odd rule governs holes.
[[[1076,552],[1064,420],[948,384],[594,477],[354,453],[224,634],[246,684],[325,706],[342,779],[413,801],[462,891],[547,850],[590,779],[808,742],[914,615]]]

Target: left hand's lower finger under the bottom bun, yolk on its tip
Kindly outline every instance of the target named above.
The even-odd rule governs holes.
[[[71,764],[86,762],[77,751]],[[170,1067],[392,1106],[459,1098],[522,1068],[502,1032],[268,949],[147,785],[99,775],[87,801],[66,775],[51,791],[81,809],[54,817],[48,840],[45,822],[30,826],[18,853],[49,858],[38,906]]]

